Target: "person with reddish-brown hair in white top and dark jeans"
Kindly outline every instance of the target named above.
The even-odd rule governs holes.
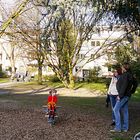
[[[113,112],[113,108],[116,104],[117,96],[118,96],[116,83],[117,83],[121,74],[122,74],[121,69],[116,69],[114,71],[113,77],[111,79],[111,82],[110,82],[110,85],[109,85],[109,88],[108,88],[108,96],[109,96],[110,103],[111,103],[111,108],[112,108],[112,123],[111,123],[111,125],[115,125],[115,115],[114,115],[114,112]]]

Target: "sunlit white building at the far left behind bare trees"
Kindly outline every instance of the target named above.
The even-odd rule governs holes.
[[[0,38],[0,67],[2,71],[11,75],[10,69],[14,66],[17,72],[24,73],[27,67],[27,59],[22,58],[23,53],[16,46],[9,43],[7,36]]]

